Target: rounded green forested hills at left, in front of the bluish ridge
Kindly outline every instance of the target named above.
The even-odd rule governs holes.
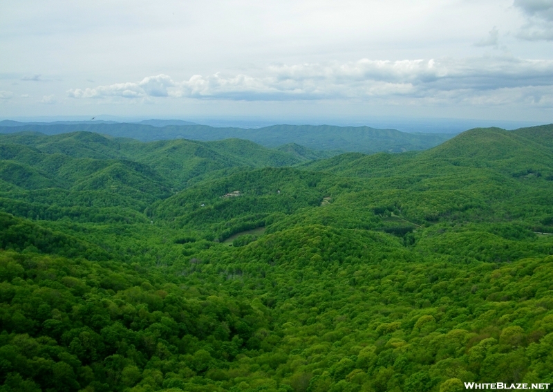
[[[90,132],[55,136],[10,133],[0,135],[0,178],[24,188],[75,188],[99,176],[104,180],[97,181],[105,183],[109,178],[112,187],[118,186],[115,183],[124,183],[145,192],[151,188],[153,192],[153,188],[182,189],[189,180],[218,170],[290,166],[333,155],[299,147],[288,152],[285,151],[288,147],[268,149],[238,139],[144,143]],[[137,176],[144,178],[145,183],[140,185],[142,180]],[[93,187],[100,187],[97,181]]]

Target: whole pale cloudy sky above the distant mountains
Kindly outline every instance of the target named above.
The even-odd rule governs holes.
[[[2,0],[0,119],[553,122],[553,0]]]

